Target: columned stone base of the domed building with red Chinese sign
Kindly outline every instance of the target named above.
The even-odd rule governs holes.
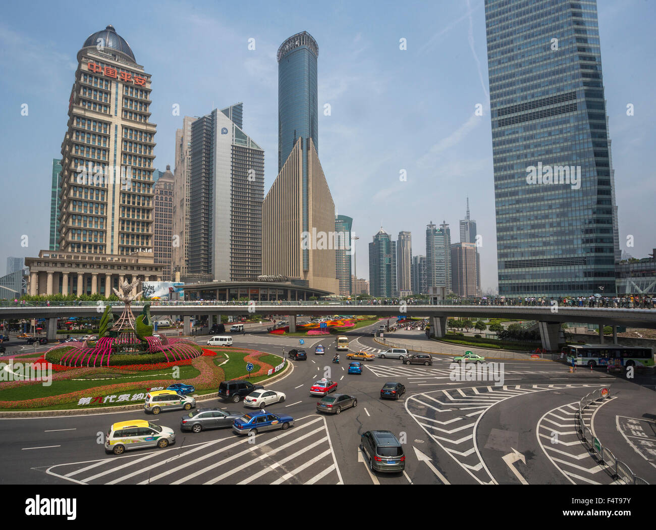
[[[112,287],[134,279],[163,281],[165,265],[155,264],[153,253],[134,256],[88,255],[62,251],[41,251],[25,258],[30,268],[28,294],[112,295]],[[136,287],[135,287],[136,289]]]

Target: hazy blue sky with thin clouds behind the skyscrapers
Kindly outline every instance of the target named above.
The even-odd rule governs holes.
[[[414,255],[424,253],[431,220],[446,220],[452,241],[459,241],[469,196],[483,236],[483,289],[496,287],[483,0],[156,6],[3,6],[0,272],[7,256],[47,248],[52,158],[60,156],[66,132],[76,54],[91,33],[112,24],[152,75],[155,165],[174,165],[174,131],[182,123],[174,104],[181,115],[203,115],[243,101],[244,130],[266,152],[265,192],[277,173],[276,51],[290,35],[311,33],[319,45],[319,158],[338,213],[354,218],[361,238],[358,276],[369,276],[367,245],[381,222],[394,237],[411,231]],[[656,7],[649,0],[600,0],[598,10],[620,243],[644,257],[656,247]],[[24,103],[27,116],[21,115]],[[325,103],[331,115],[323,114]],[[479,103],[482,117],[474,114]],[[633,116],[626,115],[628,103]],[[21,246],[23,235],[28,247]],[[633,248],[626,247],[627,235],[634,236]]]

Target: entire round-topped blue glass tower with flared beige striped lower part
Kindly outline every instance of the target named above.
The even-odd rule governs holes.
[[[262,273],[283,275],[308,287],[339,292],[335,203],[317,152],[319,47],[303,31],[279,47],[278,175],[262,207]]]

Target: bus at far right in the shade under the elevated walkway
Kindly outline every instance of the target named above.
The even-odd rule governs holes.
[[[567,363],[578,366],[653,366],[653,348],[619,344],[568,344],[561,350]]]

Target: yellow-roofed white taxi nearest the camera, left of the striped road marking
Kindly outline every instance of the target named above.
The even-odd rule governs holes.
[[[146,420],[127,420],[110,427],[105,439],[105,453],[122,455],[125,451],[144,447],[164,449],[172,443],[175,443],[173,429]]]

